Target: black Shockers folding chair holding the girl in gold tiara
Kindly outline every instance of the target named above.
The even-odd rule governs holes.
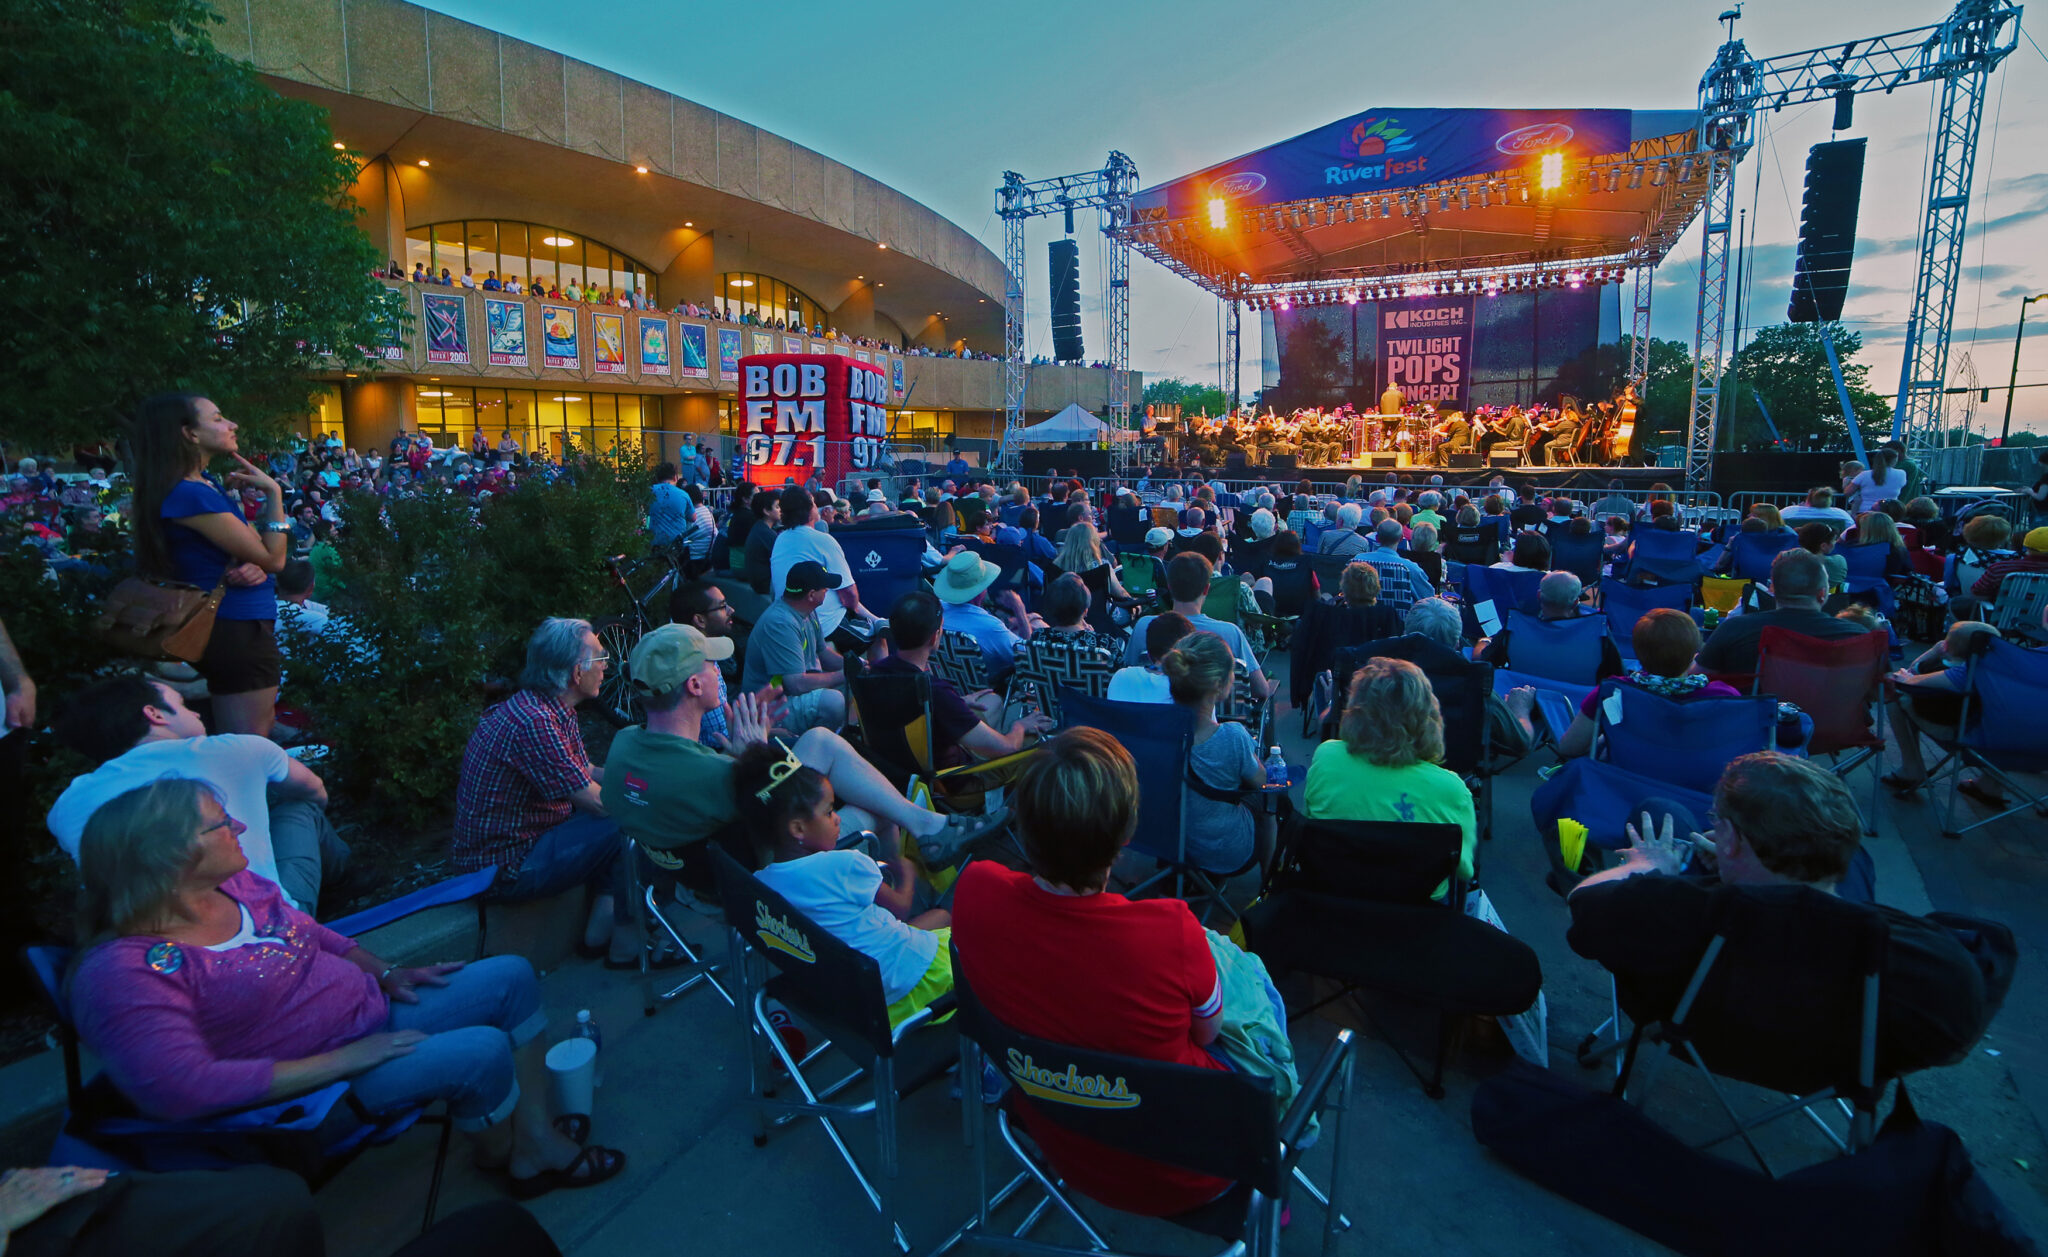
[[[952,1007],[952,997],[942,995],[891,1026],[883,974],[872,956],[821,929],[723,850],[713,852],[711,862],[725,919],[731,923],[729,968],[739,979],[741,1028],[748,1036],[748,1099],[758,1114],[754,1146],[768,1144],[770,1120],[782,1126],[815,1118],[840,1151],[846,1169],[854,1173],[854,1181],[866,1191],[868,1204],[881,1214],[883,1234],[907,1253],[909,1241],[895,1218],[897,1101],[946,1077],[954,1060],[952,1036],[934,1032],[932,1022]],[[799,1060],[768,1015],[770,999],[829,1038]],[[774,1073],[766,1069],[764,1046],[797,1083],[801,1101],[772,1095]],[[827,1048],[838,1048],[850,1058],[854,1073],[817,1085],[803,1071]],[[831,1103],[862,1081],[868,1085],[866,1099]],[[977,1106],[969,1101],[969,1108]],[[868,1179],[840,1134],[838,1122],[850,1118],[874,1118],[879,1181]]]

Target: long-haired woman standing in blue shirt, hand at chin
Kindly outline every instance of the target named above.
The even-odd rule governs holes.
[[[229,489],[264,495],[250,524],[205,479],[215,459],[233,459]],[[160,393],[135,416],[135,559],[145,575],[201,590],[225,586],[207,653],[195,665],[213,696],[215,733],[270,735],[276,714],[276,573],[291,524],[285,493],[242,457],[236,426],[197,393]]]

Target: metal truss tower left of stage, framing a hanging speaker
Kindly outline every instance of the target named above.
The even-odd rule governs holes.
[[[1065,215],[1073,229],[1075,209],[1100,209],[1108,221],[1102,233],[1110,244],[1108,274],[1104,274],[1104,332],[1110,340],[1110,426],[1122,430],[1130,422],[1130,194],[1139,188],[1139,168],[1130,158],[1112,151],[1102,170],[1063,174],[1026,182],[1016,170],[1004,172],[995,188],[995,213],[1004,219],[1004,440],[995,467],[1016,471],[1018,432],[1024,428],[1024,391],[1030,364],[1024,358],[1024,223],[1044,215]],[[1130,459],[1128,440],[1110,442],[1116,475],[1124,475]]]

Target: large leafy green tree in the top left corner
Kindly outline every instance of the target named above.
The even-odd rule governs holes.
[[[391,317],[326,111],[207,37],[197,0],[0,10],[0,356],[16,440],[117,436],[205,391],[242,424],[305,414]],[[324,358],[332,348],[340,358]]]

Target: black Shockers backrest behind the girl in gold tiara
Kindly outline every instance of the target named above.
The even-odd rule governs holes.
[[[821,929],[725,852],[713,850],[711,866],[725,919],[780,977],[774,997],[823,1024],[834,1040],[852,1034],[877,1056],[889,1056],[889,1001],[874,958]]]

